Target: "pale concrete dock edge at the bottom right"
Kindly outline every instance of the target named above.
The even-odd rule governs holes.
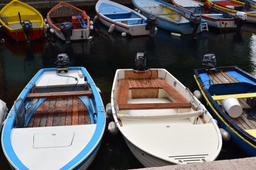
[[[219,160],[204,163],[188,163],[169,165],[162,167],[141,168],[136,170],[201,170],[201,169],[218,169],[218,170],[234,170],[234,169],[256,169],[256,157]]]

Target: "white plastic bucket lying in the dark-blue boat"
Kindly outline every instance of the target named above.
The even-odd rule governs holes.
[[[222,104],[230,117],[239,117],[243,112],[242,106],[234,96],[228,96],[223,100]]]

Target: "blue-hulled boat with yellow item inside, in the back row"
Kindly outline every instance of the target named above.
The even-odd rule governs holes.
[[[161,29],[182,35],[208,31],[207,22],[195,13],[160,0],[132,0],[132,2],[142,15],[157,17],[157,27]]]

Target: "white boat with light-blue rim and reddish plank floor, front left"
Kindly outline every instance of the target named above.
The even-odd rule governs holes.
[[[19,94],[2,131],[12,169],[86,169],[105,128],[104,106],[84,67],[40,69]]]

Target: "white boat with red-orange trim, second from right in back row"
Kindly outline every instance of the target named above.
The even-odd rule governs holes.
[[[208,26],[218,28],[219,30],[240,31],[247,16],[244,12],[237,12],[235,17],[226,11],[211,7],[210,4],[207,5],[207,3],[204,4],[194,0],[172,0],[172,2],[177,7],[188,12],[201,14],[201,17],[207,21]]]

